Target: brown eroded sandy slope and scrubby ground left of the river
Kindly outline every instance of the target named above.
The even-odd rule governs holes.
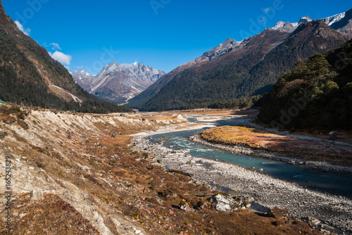
[[[131,134],[198,128],[178,113],[1,106],[0,120],[1,179],[11,171],[8,186],[1,183],[1,234],[320,234],[298,220],[217,212],[208,184],[151,164],[147,148],[132,150]],[[182,201],[189,211],[180,210]]]

